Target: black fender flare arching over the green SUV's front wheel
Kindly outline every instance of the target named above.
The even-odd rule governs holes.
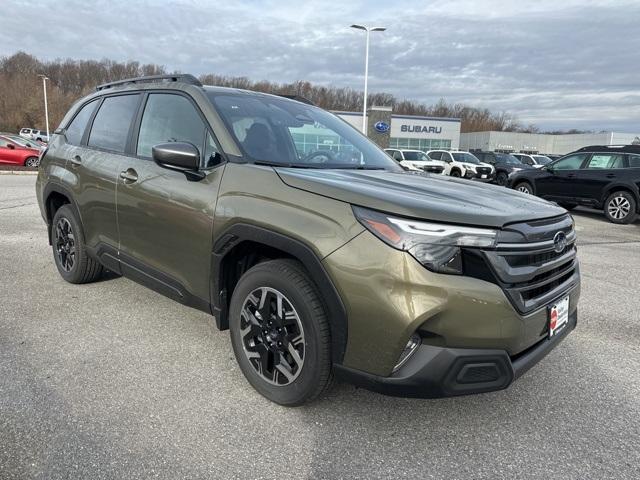
[[[222,264],[225,256],[243,241],[261,243],[287,252],[307,269],[311,279],[320,290],[327,307],[331,329],[331,356],[333,363],[341,363],[347,344],[347,311],[321,259],[305,243],[287,235],[263,227],[236,223],[226,229],[215,241],[211,255],[211,306],[220,330],[229,328],[228,294],[223,288]]]

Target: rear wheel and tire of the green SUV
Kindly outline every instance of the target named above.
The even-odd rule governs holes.
[[[89,283],[102,275],[102,265],[87,254],[82,227],[71,205],[61,206],[53,216],[51,243],[58,272],[67,282]]]

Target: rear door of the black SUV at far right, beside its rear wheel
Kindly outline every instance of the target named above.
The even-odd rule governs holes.
[[[585,167],[578,172],[578,181],[575,182],[574,192],[580,203],[599,205],[607,186],[624,180],[624,157],[623,153],[614,152],[591,155]]]

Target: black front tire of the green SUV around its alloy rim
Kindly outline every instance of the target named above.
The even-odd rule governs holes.
[[[262,288],[269,289],[269,291],[265,293],[265,291],[261,291]],[[256,293],[258,291],[260,293]],[[302,348],[303,363],[297,368],[296,376],[292,380],[289,377],[283,378],[285,376],[281,371],[276,372],[275,366],[271,368],[273,375],[269,373],[269,366],[275,364],[275,357],[271,352],[277,347],[271,343],[275,337],[270,337],[265,332],[273,331],[267,329],[275,328],[271,324],[271,320],[274,324],[279,322],[278,315],[270,314],[271,320],[267,322],[264,320],[267,312],[264,308],[268,307],[259,309],[257,308],[258,302],[254,301],[257,295],[277,295],[278,293],[283,296],[281,303],[292,307],[293,314],[297,314],[297,320],[299,320],[298,323],[288,320],[288,325],[294,325],[294,333],[290,335],[297,333],[295,325],[301,326],[298,337],[302,335],[302,340],[298,343],[298,348]],[[264,303],[266,305],[266,301]],[[269,304],[273,308],[273,298],[269,300]],[[245,306],[247,310],[244,310]],[[242,313],[251,310],[254,312],[251,314],[252,321],[249,322],[247,313],[244,313],[244,317]],[[283,307],[281,311],[285,312],[285,308]],[[256,312],[262,313],[258,315]],[[291,310],[288,313],[291,314]],[[285,318],[284,315],[282,317]],[[247,332],[247,327],[251,326],[250,331],[244,336],[241,332],[243,325],[245,332]],[[281,323],[277,323],[277,325],[281,325]],[[283,327],[282,330],[289,328]],[[233,291],[229,309],[229,329],[231,345],[240,370],[253,388],[267,399],[285,406],[302,405],[317,398],[330,385],[332,372],[329,322],[318,289],[300,263],[293,260],[271,260],[249,269],[240,278]],[[278,338],[282,339],[283,344],[294,344],[289,342],[289,337],[284,332],[282,334],[275,333],[275,335],[279,335]],[[281,342],[277,343],[280,345]],[[282,357],[278,354],[279,361],[287,361],[289,358],[289,364],[291,364],[293,357],[287,354],[286,347],[283,346],[281,349],[284,353]],[[300,360],[299,353],[300,351],[298,351],[298,360]],[[249,359],[250,355],[254,357],[251,360]],[[265,362],[264,358],[274,360],[273,362]],[[262,365],[266,365],[266,367],[262,367]],[[267,373],[263,376],[259,369],[260,371],[264,369]],[[287,370],[287,372],[291,375],[293,369]],[[293,377],[293,375],[291,376]],[[285,382],[285,384],[277,384],[278,382]]]

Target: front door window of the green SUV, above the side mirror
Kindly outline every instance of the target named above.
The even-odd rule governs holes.
[[[137,153],[151,157],[154,145],[189,142],[202,153],[205,124],[193,104],[181,95],[149,95],[142,115]]]

